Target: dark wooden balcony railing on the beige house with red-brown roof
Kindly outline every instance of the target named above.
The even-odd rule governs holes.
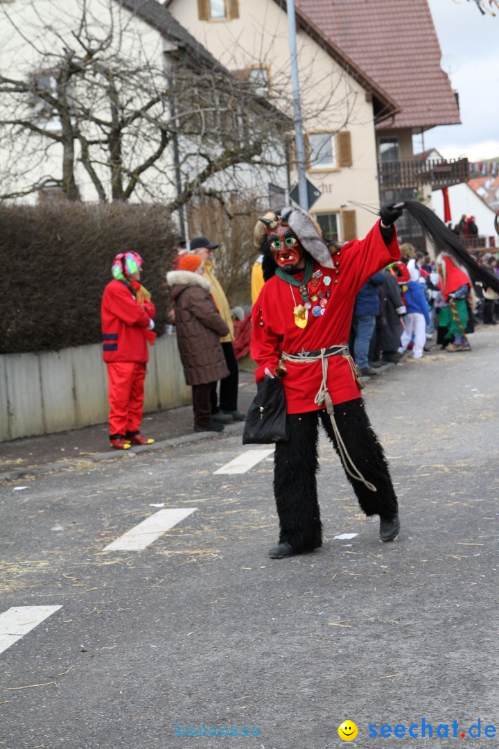
[[[380,161],[378,178],[380,189],[402,189],[423,184],[431,184],[432,189],[441,189],[468,181],[468,159]]]

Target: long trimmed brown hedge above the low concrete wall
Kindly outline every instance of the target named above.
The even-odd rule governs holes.
[[[102,291],[114,255],[126,250],[144,260],[141,282],[161,334],[175,237],[160,205],[0,205],[0,353],[100,342]]]

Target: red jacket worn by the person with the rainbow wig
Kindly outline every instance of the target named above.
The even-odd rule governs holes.
[[[144,307],[126,283],[113,279],[102,295],[103,359],[109,362],[149,361],[144,335],[156,311],[152,302]]]

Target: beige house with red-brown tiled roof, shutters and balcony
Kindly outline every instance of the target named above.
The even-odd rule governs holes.
[[[290,89],[286,0],[166,0],[225,67],[246,70],[269,98]],[[467,163],[414,159],[412,138],[459,124],[426,0],[296,0],[307,178],[328,234],[361,235],[364,208],[414,198],[467,178]],[[296,181],[293,149],[291,184]],[[417,227],[399,220],[402,240]]]

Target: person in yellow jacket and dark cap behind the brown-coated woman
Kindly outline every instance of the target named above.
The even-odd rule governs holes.
[[[198,255],[204,264],[204,277],[209,281],[212,288],[212,297],[215,306],[218,309],[221,318],[227,323],[229,333],[220,339],[221,348],[224,350],[225,361],[229,370],[228,377],[220,380],[220,399],[218,402],[217,386],[212,389],[212,419],[215,422],[226,424],[232,421],[244,421],[244,413],[237,410],[237,396],[239,388],[239,366],[237,365],[236,354],[232,345],[234,340],[234,324],[232,313],[221,288],[220,282],[215,275],[215,264],[213,262],[213,250],[218,248],[218,244],[213,244],[207,237],[195,237],[190,241],[190,249],[195,255]]]

